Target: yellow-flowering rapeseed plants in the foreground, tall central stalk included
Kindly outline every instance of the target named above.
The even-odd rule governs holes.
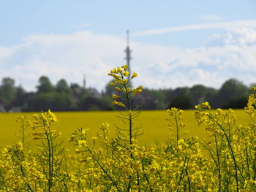
[[[252,88],[246,113],[249,123],[237,126],[233,110],[212,110],[207,101],[195,106],[195,119],[205,126],[208,139],[187,138],[181,130],[183,111],[167,110],[170,139],[165,144],[138,145],[135,126],[140,114],[132,107],[142,86],[129,88],[127,66],[110,71],[118,91],[112,104],[123,107],[117,135],[110,138],[110,124],[102,123],[97,137],[78,128],[69,139],[75,145],[70,161],[64,161],[53,128],[53,112],[41,112],[34,120],[18,118],[21,141],[1,150],[0,191],[256,191],[256,88]],[[31,137],[37,150],[29,150]]]

